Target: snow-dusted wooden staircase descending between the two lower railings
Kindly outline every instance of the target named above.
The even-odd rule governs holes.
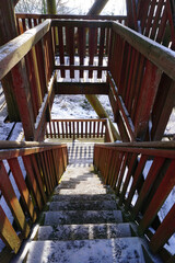
[[[136,226],[122,219],[114,192],[93,171],[93,144],[72,144],[68,151],[70,164],[26,262],[161,262],[150,258],[145,240],[136,237]]]

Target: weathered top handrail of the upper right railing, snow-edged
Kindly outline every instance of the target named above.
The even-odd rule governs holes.
[[[163,72],[175,80],[175,52],[137,33],[129,27],[113,22],[113,30],[139,50],[145,58],[156,65]]]

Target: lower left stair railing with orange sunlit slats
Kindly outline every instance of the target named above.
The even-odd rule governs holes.
[[[0,238],[16,253],[66,170],[67,146],[1,141],[0,147]]]

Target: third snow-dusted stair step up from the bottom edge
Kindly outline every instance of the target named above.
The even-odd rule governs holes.
[[[104,224],[122,222],[120,210],[70,210],[46,211],[45,226],[74,225],[74,224]]]

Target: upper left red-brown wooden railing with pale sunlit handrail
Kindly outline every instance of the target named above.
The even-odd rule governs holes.
[[[50,20],[0,47],[0,80],[9,72],[26,140],[43,139],[54,100],[54,49]]]

